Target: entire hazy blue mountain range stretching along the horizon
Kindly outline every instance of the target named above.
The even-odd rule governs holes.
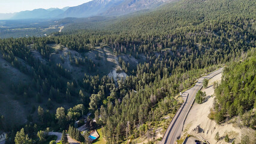
[[[63,19],[66,17],[121,16],[139,10],[156,8],[174,0],[93,0],[76,7],[35,9],[0,14],[0,19]]]

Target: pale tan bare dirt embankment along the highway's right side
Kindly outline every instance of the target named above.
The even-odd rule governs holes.
[[[243,134],[253,135],[254,131],[249,128],[234,127],[233,124],[228,124],[228,122],[218,125],[215,121],[208,118],[210,110],[213,108],[213,102],[215,98],[214,96],[212,97],[212,95],[214,95],[213,83],[220,82],[221,76],[222,73],[210,79],[208,88],[202,89],[203,92],[206,92],[207,100],[203,104],[194,104],[189,112],[189,115],[187,115],[183,134],[201,136],[209,143],[227,143],[224,139],[228,134],[231,139],[230,142],[234,141],[235,143],[240,143]],[[195,132],[193,129],[195,129],[197,126],[200,128],[199,131]],[[221,140],[217,142],[215,140],[215,136],[218,132]]]

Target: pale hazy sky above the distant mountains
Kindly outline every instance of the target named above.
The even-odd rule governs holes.
[[[0,13],[14,13],[36,8],[64,8],[91,0],[0,0]]]

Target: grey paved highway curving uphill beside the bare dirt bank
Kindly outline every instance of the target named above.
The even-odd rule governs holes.
[[[183,122],[186,119],[187,114],[189,113],[190,107],[192,107],[192,104],[195,100],[195,95],[203,86],[203,80],[210,79],[216,76],[217,74],[221,73],[222,70],[223,68],[220,68],[219,70],[213,71],[207,76],[200,77],[200,79],[198,79],[198,82],[195,84],[193,88],[190,88],[187,91],[183,92],[181,97],[183,98],[184,103],[181,105],[180,109],[178,109],[177,113],[175,114],[174,118],[171,121],[171,124],[169,124],[169,127],[167,128],[165,135],[163,136],[163,139],[160,142],[161,144],[174,144],[176,140],[180,138]]]

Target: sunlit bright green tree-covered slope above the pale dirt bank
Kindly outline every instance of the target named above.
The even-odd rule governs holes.
[[[221,84],[215,89],[215,119],[218,123],[226,118],[241,116],[242,124],[256,128],[253,109],[256,106],[256,56],[243,62],[232,62],[226,67]]]

